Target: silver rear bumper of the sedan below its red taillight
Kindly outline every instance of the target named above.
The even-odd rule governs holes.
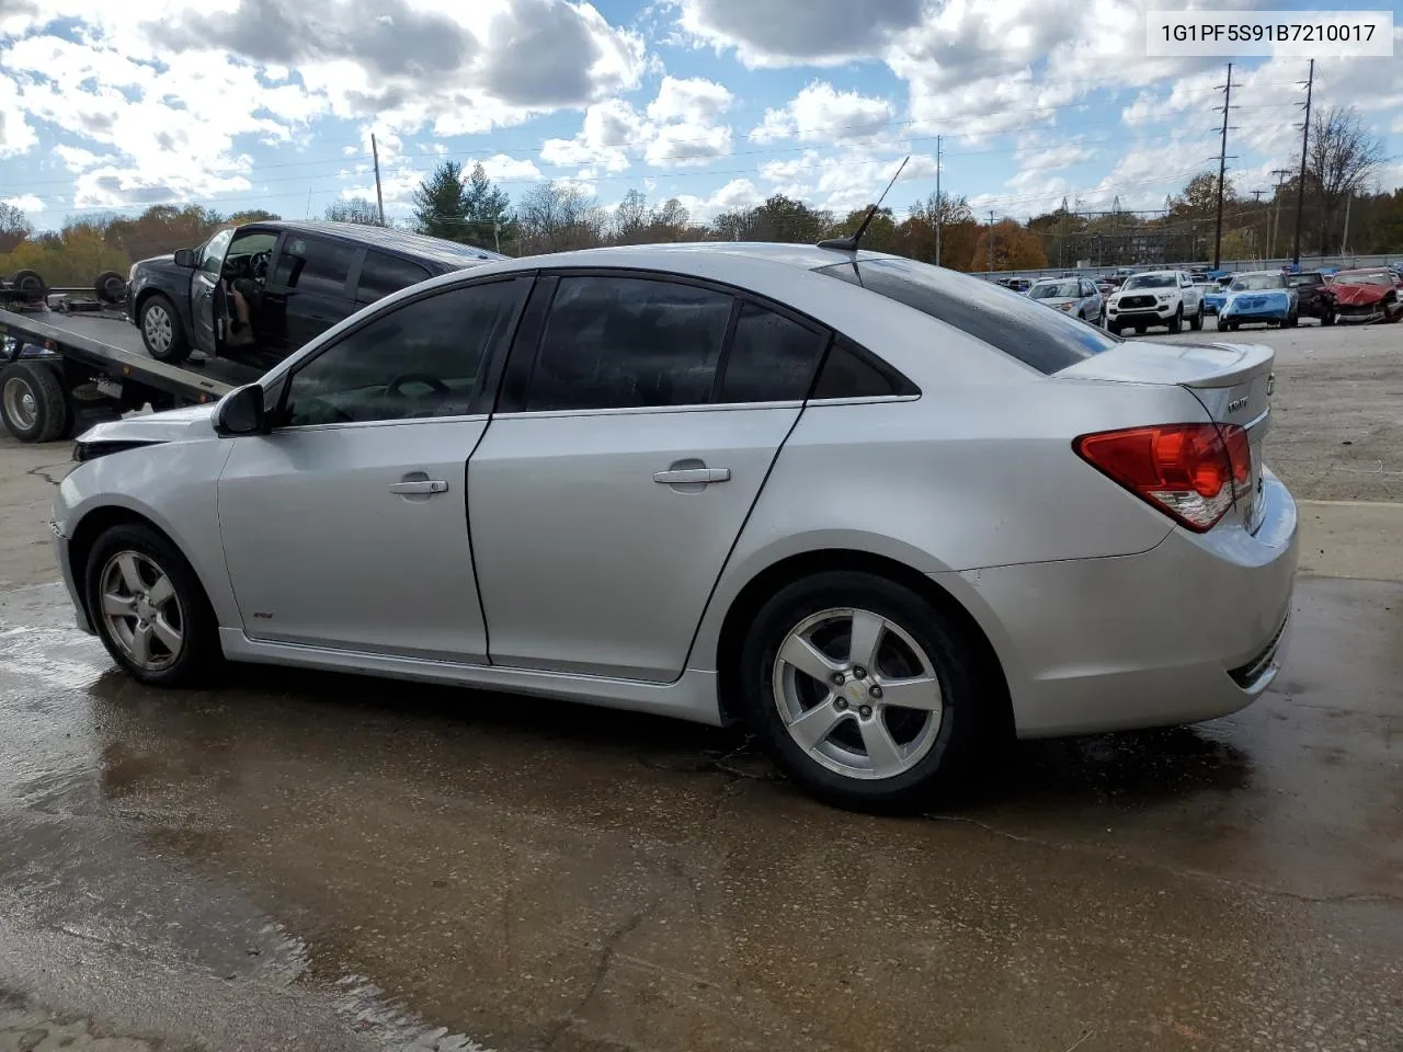
[[[999,651],[1019,736],[1190,724],[1251,704],[1285,655],[1298,555],[1295,501],[1266,470],[1261,501],[1256,534],[1176,529],[1139,555],[950,575]]]

